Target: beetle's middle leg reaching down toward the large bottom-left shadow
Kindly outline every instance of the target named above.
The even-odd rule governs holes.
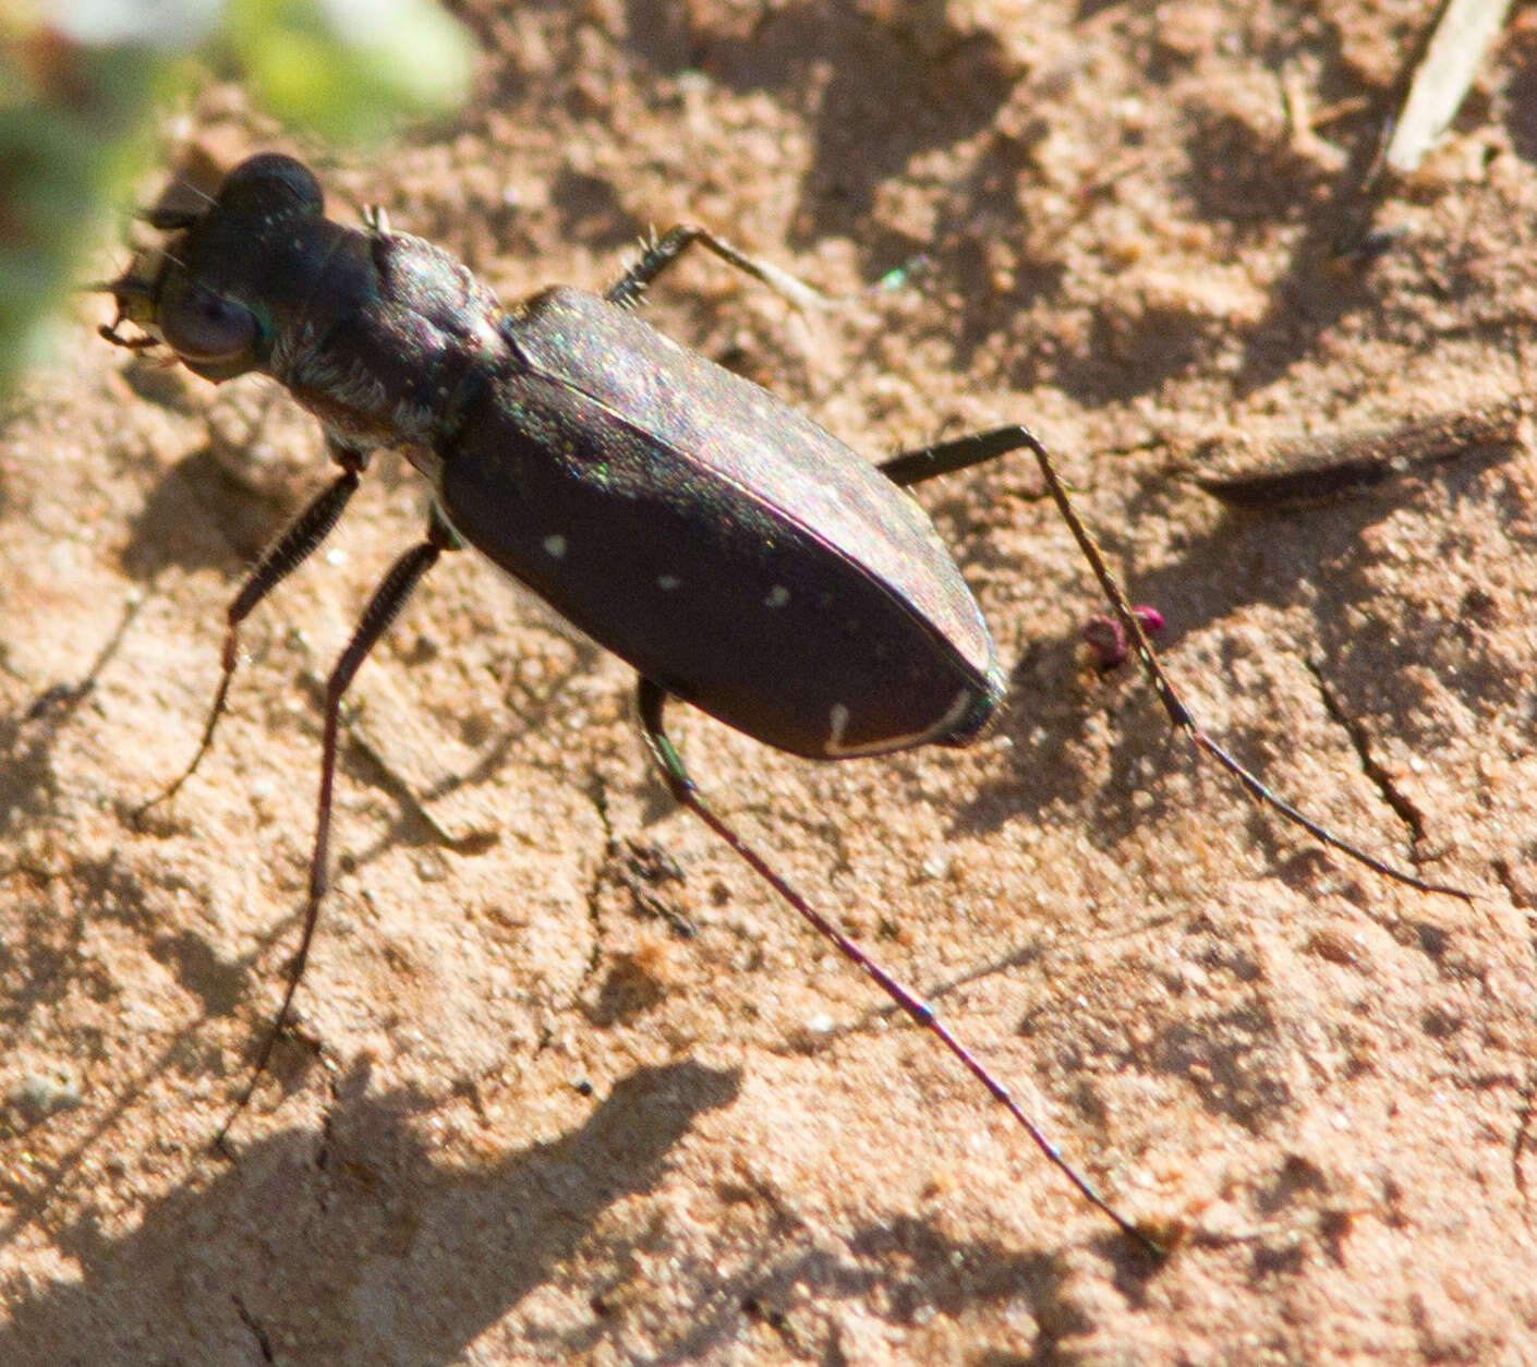
[[[340,483],[341,481],[338,480],[338,484]],[[263,1073],[267,1070],[267,1063],[272,1059],[272,1050],[277,1046],[278,1036],[283,1033],[283,1023],[287,1019],[289,1009],[294,1006],[294,993],[298,992],[300,980],[304,976],[304,964],[309,961],[309,947],[315,940],[315,924],[320,920],[320,904],[326,896],[326,887],[329,884],[327,866],[330,855],[330,806],[332,792],[335,790],[337,783],[337,750],[341,735],[341,700],[352,686],[352,680],[358,669],[363,667],[363,661],[367,660],[369,652],[378,644],[380,637],[389,630],[390,624],[400,615],[400,610],[406,606],[406,600],[410,598],[417,584],[421,583],[423,575],[426,575],[426,572],[438,563],[438,558],[444,550],[456,550],[460,546],[461,541],[458,535],[433,504],[430,520],[427,523],[426,538],[417,546],[412,546],[410,550],[401,555],[400,560],[390,566],[389,574],[384,575],[380,586],[373,590],[369,606],[363,609],[363,615],[358,618],[358,624],[352,632],[352,640],[347,641],[347,647],[341,652],[335,667],[330,670],[330,677],[326,680],[326,717],[320,749],[320,798],[315,813],[315,846],[309,860],[309,895],[304,901],[304,927],[300,932],[298,949],[294,952],[294,960],[289,964],[283,1004],[272,1018],[266,1038],[257,1050],[257,1061],[251,1069],[251,1078],[246,1083],[244,1090],[235,1101],[229,1118],[223,1126],[220,1126],[218,1133],[214,1136],[214,1144],[221,1150],[227,1152],[224,1141],[229,1135],[229,1127],[240,1118],[240,1113],[246,1109],[252,1095],[255,1095],[257,1084],[261,1081]],[[310,549],[314,549],[314,546]]]

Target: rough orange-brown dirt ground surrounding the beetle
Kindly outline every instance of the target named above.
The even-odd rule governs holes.
[[[300,1029],[220,1161],[315,681],[424,492],[375,464],[135,821],[326,467],[271,384],[134,361],[86,298],[0,431],[0,1361],[1537,1361],[1529,432],[1305,507],[1191,478],[1531,392],[1534,15],[1416,175],[1353,189],[1434,9],[478,3],[473,101],[387,149],[227,89],[168,120],[168,165],[298,151],[504,298],[679,220],[835,292],[925,254],[813,314],[690,260],[650,317],[871,457],[1031,423],[1208,727],[1476,900],[1323,852],[1100,674],[1024,458],[921,491],[1010,661],[984,741],[813,764],[675,709],[719,807],[1174,1236],[1156,1264],[669,807],[627,670],[450,557],[358,681]]]

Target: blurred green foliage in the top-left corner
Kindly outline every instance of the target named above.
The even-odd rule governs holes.
[[[326,141],[452,108],[467,34],[430,0],[0,0],[0,394],[200,83]]]

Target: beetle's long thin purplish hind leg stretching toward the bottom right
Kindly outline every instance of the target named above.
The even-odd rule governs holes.
[[[762,858],[736,830],[729,826],[715,810],[704,801],[699,795],[699,789],[689,773],[687,766],[682,763],[682,757],[678,753],[676,746],[667,738],[667,732],[662,727],[662,710],[667,704],[667,690],[661,684],[653,683],[649,678],[641,678],[636,686],[636,707],[641,718],[641,733],[646,738],[646,747],[650,750],[652,763],[656,766],[662,783],[667,784],[667,790],[672,793],[673,800],[687,807],[695,813],[705,826],[710,827],[727,846],[759,876],[767,883],[785,903],[788,903],[818,935],[822,935],[836,946],[838,952],[855,964],[865,976],[868,976],[875,984],[885,992],[913,1021],[916,1021],[922,1029],[928,1030],[945,1049],[954,1055],[965,1069],[984,1086],[988,1093],[998,1101],[1008,1113],[1024,1127],[1025,1133],[1030,1135],[1034,1146],[1067,1176],[1070,1182],[1084,1195],[1084,1198],[1105,1215],[1108,1215],[1122,1230],[1122,1233],[1130,1235],[1144,1249],[1147,1249],[1153,1256],[1162,1258],[1164,1250],[1137,1229],[1130,1219],[1120,1215],[1097,1190],[1084,1178],[1061,1153],[1061,1150],[1053,1144],[1041,1127],[1025,1115],[1019,1103],[1010,1095],[1008,1089],[998,1081],[950,1030],[945,1024],[934,1015],[934,1009],[924,1001],[913,989],[907,987],[898,978],[893,978],[887,969],[870,958],[865,950],[862,950],[853,940],[842,933],[832,921],[827,920],[821,912],[816,910],[804,896],[801,896],[796,889],[785,881],[785,878],[778,873],[773,866]]]

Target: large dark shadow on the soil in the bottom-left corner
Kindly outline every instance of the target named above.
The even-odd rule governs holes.
[[[429,1345],[413,1361],[460,1361],[606,1210],[655,1189],[739,1086],[693,1063],[636,1069],[572,1133],[449,1170],[407,1123],[417,1099],[349,1096],[364,1083],[343,1081],[318,1153],[286,1132],[152,1202],[124,1236],[89,1215],[57,1229],[78,1278],[9,1301],[0,1361],[77,1361],[103,1329],[115,1352],[101,1361],[118,1362],[255,1361],[272,1342],[284,1361],[364,1361],[369,1344],[372,1361],[400,1361],[413,1341]]]

